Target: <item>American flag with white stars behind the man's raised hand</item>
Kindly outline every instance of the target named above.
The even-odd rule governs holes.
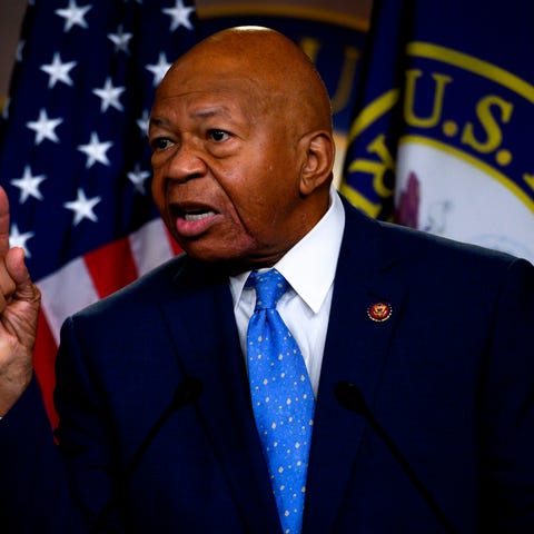
[[[150,198],[157,83],[198,39],[188,0],[33,0],[0,129],[11,246],[42,293],[36,373],[52,425],[63,319],[177,253]]]

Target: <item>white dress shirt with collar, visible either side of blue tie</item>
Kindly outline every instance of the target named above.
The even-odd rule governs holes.
[[[319,384],[344,227],[345,210],[333,187],[328,211],[274,266],[289,284],[288,290],[278,301],[277,309],[303,353],[315,395]],[[246,271],[230,277],[234,313],[245,357],[248,322],[256,305],[256,291],[245,288],[249,274],[250,271]]]

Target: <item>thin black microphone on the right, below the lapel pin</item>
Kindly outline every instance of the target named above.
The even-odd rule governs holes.
[[[336,384],[334,389],[337,402],[346,409],[355,412],[356,414],[363,416],[379,438],[387,445],[390,454],[397,462],[397,464],[403,468],[408,478],[412,481],[412,484],[415,486],[419,495],[426,502],[432,513],[443,526],[445,532],[448,534],[454,534],[455,530],[447,516],[443,513],[442,508],[437,504],[436,500],[433,497],[428,488],[421,482],[421,478],[417,476],[413,467],[409,465],[408,461],[404,457],[400,449],[397,447],[395,442],[392,439],[389,434],[384,429],[384,427],[378,423],[373,412],[365,402],[364,394],[356,384],[350,382],[342,380]]]

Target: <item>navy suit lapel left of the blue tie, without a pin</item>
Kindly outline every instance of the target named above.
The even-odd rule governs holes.
[[[164,309],[186,376],[202,383],[198,411],[245,530],[276,533],[279,522],[250,406],[227,278],[194,261]]]

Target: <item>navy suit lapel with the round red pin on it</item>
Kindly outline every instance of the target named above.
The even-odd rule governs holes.
[[[404,293],[380,227],[352,209],[346,212],[308,471],[305,530],[307,525],[314,532],[335,531],[366,427],[363,417],[338,404],[335,386],[339,380],[354,383],[373,405]],[[392,307],[388,319],[369,317],[376,303]]]

